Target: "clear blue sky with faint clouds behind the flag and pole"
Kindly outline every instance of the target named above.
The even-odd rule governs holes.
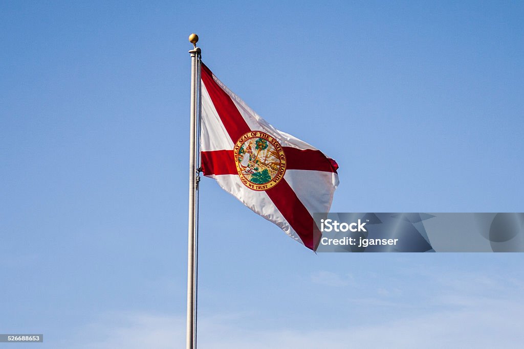
[[[522,212],[523,15],[518,2],[2,2],[0,332],[183,347],[191,32],[250,107],[337,160],[332,211]],[[211,179],[201,188],[202,348],[524,340],[521,254],[315,255]]]

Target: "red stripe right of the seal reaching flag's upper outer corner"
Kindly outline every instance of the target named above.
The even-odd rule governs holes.
[[[339,165],[335,160],[326,157],[320,150],[282,147],[286,154],[289,170],[311,170],[335,172]]]

